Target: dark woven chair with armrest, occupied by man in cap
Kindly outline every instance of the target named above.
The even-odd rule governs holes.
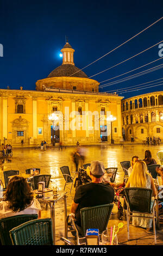
[[[82,228],[78,227],[71,214],[68,215],[65,222],[65,239],[67,239],[67,233],[71,232],[73,235],[76,234],[77,245],[85,245],[87,229],[96,228],[99,229],[99,234],[102,234],[108,225],[113,205],[110,203],[81,209]],[[72,225],[70,225],[69,221],[72,221]]]

